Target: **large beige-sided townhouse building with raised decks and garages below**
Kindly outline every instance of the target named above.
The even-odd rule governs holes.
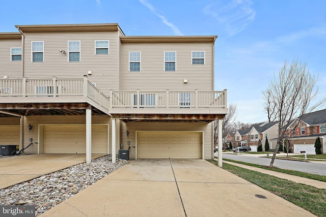
[[[226,90],[214,91],[217,36],[16,27],[0,33],[0,145],[86,153],[87,163],[119,149],[132,159],[213,158],[212,121],[222,127],[228,112]]]

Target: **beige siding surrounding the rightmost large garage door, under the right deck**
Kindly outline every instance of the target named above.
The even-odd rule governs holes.
[[[197,131],[203,132],[204,159],[212,158],[212,123],[197,122],[128,122],[123,124],[121,144],[123,149],[128,149],[127,141],[130,141],[130,158],[135,158],[136,131]],[[126,131],[129,131],[127,139]]]

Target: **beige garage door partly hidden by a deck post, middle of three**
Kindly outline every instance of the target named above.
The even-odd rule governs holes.
[[[86,153],[86,127],[44,126],[44,153]],[[92,126],[92,153],[107,153],[107,126]]]

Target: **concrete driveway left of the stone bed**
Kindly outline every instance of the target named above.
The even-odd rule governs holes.
[[[92,154],[92,159],[105,154]],[[0,158],[0,189],[86,162],[86,154],[28,154]]]

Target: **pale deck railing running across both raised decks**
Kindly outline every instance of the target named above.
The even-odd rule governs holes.
[[[110,91],[105,96],[83,79],[0,79],[0,97],[84,96],[110,108],[226,108],[223,91]]]

